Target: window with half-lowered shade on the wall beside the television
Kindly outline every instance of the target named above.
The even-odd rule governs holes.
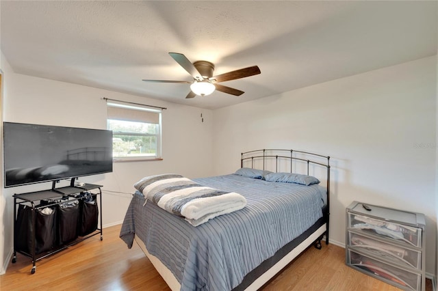
[[[161,110],[107,102],[107,113],[114,160],[161,158]]]

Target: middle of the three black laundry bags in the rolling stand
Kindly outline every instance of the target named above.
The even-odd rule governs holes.
[[[59,208],[60,245],[70,243],[77,238],[79,204],[60,206]]]

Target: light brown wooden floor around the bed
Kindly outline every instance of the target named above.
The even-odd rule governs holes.
[[[34,275],[31,260],[18,254],[0,276],[0,290],[170,290],[138,245],[128,249],[118,238],[119,231],[105,228],[103,241],[94,236],[38,261]],[[344,258],[341,247],[311,247],[262,290],[399,290],[349,268]]]

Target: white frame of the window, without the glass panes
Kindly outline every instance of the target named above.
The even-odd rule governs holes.
[[[127,135],[127,136],[139,136],[139,137],[156,137],[156,154],[153,156],[113,156],[113,162],[129,162],[129,161],[161,161],[162,158],[162,110],[161,109],[151,109],[150,107],[140,106],[140,105],[126,105],[123,102],[107,102],[108,107],[116,107],[120,109],[127,109],[132,111],[146,111],[149,113],[156,113],[158,115],[158,124],[157,124],[157,133],[131,133],[127,131],[114,131],[110,128],[110,120],[125,120],[130,122],[143,122],[142,120],[127,120],[127,119],[114,119],[107,115],[107,129],[112,130],[112,135]],[[144,124],[148,124],[147,122],[143,122]],[[155,123],[149,123],[155,124]],[[114,147],[114,141],[113,141]]]

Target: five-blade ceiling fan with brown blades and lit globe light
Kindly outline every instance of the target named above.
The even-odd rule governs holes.
[[[218,74],[213,76],[214,64],[209,61],[195,61],[192,62],[185,57],[182,53],[169,53],[170,57],[175,59],[177,63],[184,68],[193,77],[193,81],[166,81],[166,80],[143,80],[145,82],[158,82],[158,83],[188,83],[190,85],[191,91],[185,98],[193,98],[196,95],[206,96],[218,90],[227,94],[234,96],[240,96],[244,94],[243,91],[239,89],[234,89],[218,83],[224,81],[231,81],[235,79],[241,79],[245,77],[250,77],[255,74],[260,74],[260,69],[258,66],[251,66],[248,68],[243,68],[240,70],[234,70],[231,72],[226,72],[224,74]]]

